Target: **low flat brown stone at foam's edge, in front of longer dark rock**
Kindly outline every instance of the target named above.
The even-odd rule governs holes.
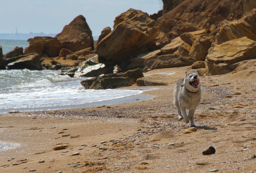
[[[113,89],[124,86],[131,86],[134,82],[128,77],[111,77],[96,80],[90,86],[90,89]]]

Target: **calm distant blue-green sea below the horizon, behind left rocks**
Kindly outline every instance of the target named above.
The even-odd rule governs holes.
[[[16,46],[23,47],[23,50],[28,47],[29,43],[27,40],[3,40],[0,39],[0,45],[3,49],[3,54],[12,51]]]

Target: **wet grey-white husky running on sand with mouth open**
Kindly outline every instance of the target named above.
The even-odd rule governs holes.
[[[186,123],[190,120],[191,127],[195,127],[194,112],[201,99],[200,87],[201,81],[196,72],[189,74],[186,72],[185,78],[180,79],[174,87],[174,104],[178,109],[179,120],[183,119]],[[189,110],[188,115],[186,109]]]

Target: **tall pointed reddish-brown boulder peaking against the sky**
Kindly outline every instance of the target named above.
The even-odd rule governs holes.
[[[93,46],[92,31],[89,28],[84,16],[79,15],[61,33],[56,35],[60,41],[61,48],[66,48],[72,52],[79,51]]]

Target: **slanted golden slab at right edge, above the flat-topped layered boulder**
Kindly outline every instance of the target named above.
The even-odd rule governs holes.
[[[255,5],[256,7],[256,5]],[[256,9],[248,12],[243,18],[235,21],[223,22],[216,35],[217,44],[246,36],[256,41]]]

